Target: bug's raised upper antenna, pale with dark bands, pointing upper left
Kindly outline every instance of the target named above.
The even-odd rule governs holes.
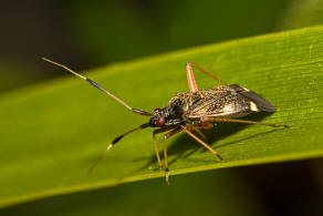
[[[90,80],[88,78],[85,78],[83,75],[81,75],[80,73],[76,73],[75,71],[73,71],[72,69],[65,66],[64,64],[60,64],[58,62],[54,62],[52,60],[49,60],[46,58],[42,58],[42,60],[51,63],[51,64],[54,64],[56,66],[61,66],[63,69],[65,69],[66,71],[73,73],[74,75],[85,80],[86,82],[88,82],[92,86],[98,89],[100,91],[104,92],[105,94],[107,94],[108,96],[111,96],[112,99],[114,99],[115,101],[117,101],[118,103],[121,103],[122,105],[124,105],[126,109],[128,109],[129,111],[133,111],[134,113],[136,114],[139,114],[139,115],[148,115],[150,116],[152,114],[146,112],[146,111],[142,111],[142,110],[138,110],[138,109],[133,109],[132,106],[129,106],[128,104],[126,104],[124,101],[122,101],[121,99],[116,97],[114,94],[112,94],[110,91],[103,89],[100,84],[97,84],[96,82]]]

